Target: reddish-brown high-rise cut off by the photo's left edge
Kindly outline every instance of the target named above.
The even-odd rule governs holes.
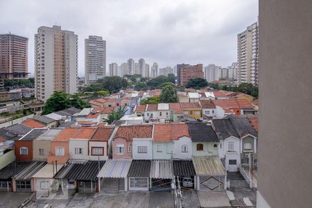
[[[0,35],[0,78],[23,79],[28,74],[28,38]]]

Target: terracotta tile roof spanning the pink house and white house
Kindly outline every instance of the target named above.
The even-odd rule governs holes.
[[[115,138],[121,137],[128,141],[133,138],[151,138],[153,125],[121,125],[119,126]]]

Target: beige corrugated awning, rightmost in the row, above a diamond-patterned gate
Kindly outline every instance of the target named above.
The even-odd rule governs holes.
[[[193,156],[196,175],[226,175],[219,157]]]

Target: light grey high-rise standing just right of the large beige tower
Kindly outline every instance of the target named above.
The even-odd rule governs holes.
[[[106,41],[100,36],[85,39],[85,83],[96,83],[106,75]]]

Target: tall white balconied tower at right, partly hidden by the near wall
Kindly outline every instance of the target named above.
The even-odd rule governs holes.
[[[237,35],[238,83],[259,84],[259,22]]]

